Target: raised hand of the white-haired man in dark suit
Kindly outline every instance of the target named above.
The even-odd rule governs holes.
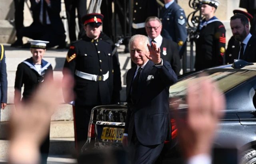
[[[153,61],[155,64],[158,64],[161,62],[161,58],[160,58],[160,48],[157,47],[156,43],[154,43],[153,41],[151,42],[152,48],[150,47],[150,45],[148,44],[148,51],[149,54],[146,54],[146,57]]]

